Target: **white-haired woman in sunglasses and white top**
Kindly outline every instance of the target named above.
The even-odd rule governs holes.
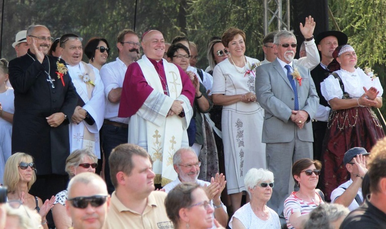
[[[244,178],[250,202],[232,216],[229,227],[235,229],[280,229],[279,215],[267,206],[273,189],[273,173],[252,168]]]

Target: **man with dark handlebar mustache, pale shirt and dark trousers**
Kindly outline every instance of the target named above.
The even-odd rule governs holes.
[[[133,30],[122,30],[117,37],[117,60],[103,65],[99,72],[105,94],[104,122],[100,130],[100,140],[106,161],[104,178],[110,194],[113,193],[114,186],[110,179],[108,157],[113,148],[126,143],[128,138],[129,118],[118,117],[122,85],[127,67],[137,58],[140,46],[138,35]]]

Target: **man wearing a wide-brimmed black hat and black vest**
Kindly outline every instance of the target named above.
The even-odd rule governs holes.
[[[312,80],[315,83],[316,92],[319,96],[319,107],[312,120],[312,131],[314,135],[313,150],[314,160],[321,160],[321,148],[325,130],[327,128],[330,106],[321,94],[320,83],[331,73],[328,64],[333,61],[333,52],[338,45],[347,43],[347,35],[339,31],[325,31],[319,33],[315,38],[315,44],[320,52],[320,63],[311,71]]]

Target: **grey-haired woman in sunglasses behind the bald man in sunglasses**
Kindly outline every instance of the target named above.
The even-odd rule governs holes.
[[[89,149],[77,149],[66,159],[66,172],[70,179],[84,172],[95,173],[97,162],[98,158]],[[66,212],[67,191],[66,189],[58,193],[53,203],[52,216],[57,229],[67,229],[72,225],[71,217],[64,213]]]

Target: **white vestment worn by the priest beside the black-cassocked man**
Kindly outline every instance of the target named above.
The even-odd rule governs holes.
[[[76,149],[88,148],[100,159],[99,130],[102,127],[104,117],[104,86],[99,73],[85,62],[81,61],[75,66],[67,65],[67,67],[76,92],[85,103],[82,108],[95,120],[92,125],[89,125],[85,120],[79,124],[70,120],[71,152]]]

